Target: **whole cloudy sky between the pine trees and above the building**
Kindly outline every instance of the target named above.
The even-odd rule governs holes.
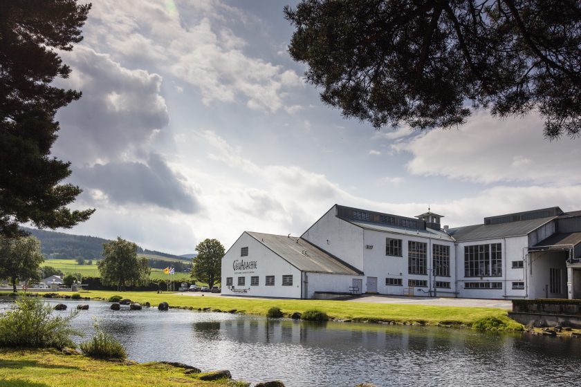
[[[172,254],[244,231],[302,234],[335,203],[450,227],[559,206],[581,209],[580,140],[550,142],[532,113],[476,111],[457,129],[346,120],[288,55],[293,1],[99,0],[61,53],[82,91],[57,113],[70,161],[70,234]]]

